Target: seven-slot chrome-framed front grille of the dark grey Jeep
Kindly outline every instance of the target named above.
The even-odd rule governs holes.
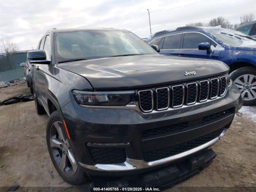
[[[222,97],[226,94],[226,90],[226,76],[140,90],[139,106],[144,113],[179,108]]]

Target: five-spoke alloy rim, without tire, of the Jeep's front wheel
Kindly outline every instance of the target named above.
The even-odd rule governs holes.
[[[76,173],[77,163],[62,127],[63,124],[60,121],[52,124],[50,128],[50,146],[54,160],[60,170],[65,175],[72,176]]]

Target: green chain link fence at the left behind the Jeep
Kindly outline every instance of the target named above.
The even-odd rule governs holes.
[[[28,51],[0,54],[0,82],[9,82],[25,77],[20,63],[26,61]]]

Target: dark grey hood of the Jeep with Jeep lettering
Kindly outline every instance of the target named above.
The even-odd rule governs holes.
[[[164,55],[100,58],[58,64],[60,68],[85,77],[94,90],[124,90],[175,84],[224,74],[220,61]],[[195,71],[196,75],[185,76]]]

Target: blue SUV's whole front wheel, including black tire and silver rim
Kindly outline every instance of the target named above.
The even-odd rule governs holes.
[[[256,105],[256,68],[242,67],[234,70],[230,78],[241,91],[245,106]]]

